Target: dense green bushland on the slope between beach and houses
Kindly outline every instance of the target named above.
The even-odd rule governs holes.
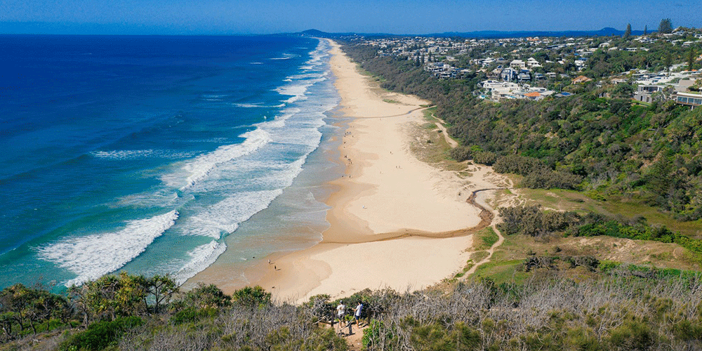
[[[630,38],[604,39],[611,45],[642,45]],[[650,104],[636,103],[631,100],[635,86],[609,81],[564,85],[562,91],[574,93],[565,98],[489,102],[475,94],[484,72],[437,79],[411,60],[378,56],[375,47],[362,42],[347,42],[344,49],[380,77],[383,88],[435,102],[436,116],[461,142],[450,153],[458,161],[494,164],[498,172],[521,176],[523,187],[647,204],[680,221],[702,218],[701,109],[676,105],[662,95]],[[665,67],[694,50],[665,41],[647,49],[597,50],[581,73],[609,77],[633,68]]]

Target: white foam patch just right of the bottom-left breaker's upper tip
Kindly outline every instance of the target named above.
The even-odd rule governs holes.
[[[237,230],[239,223],[267,208],[282,192],[282,189],[275,189],[232,194],[188,218],[183,234],[220,239],[223,232]]]

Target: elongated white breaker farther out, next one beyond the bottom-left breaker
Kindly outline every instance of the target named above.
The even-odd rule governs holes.
[[[218,164],[223,164],[237,157],[251,154],[251,152],[258,150],[259,147],[271,141],[270,134],[260,128],[248,131],[239,136],[246,138],[244,143],[220,146],[217,150],[200,155],[193,161],[185,164],[182,169],[190,173],[190,176],[185,179],[186,183],[183,187],[180,187],[180,190],[192,187],[195,183],[206,178],[208,173]]]

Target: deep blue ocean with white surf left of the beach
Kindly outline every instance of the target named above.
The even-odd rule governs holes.
[[[185,282],[227,244],[270,253],[284,249],[270,228],[324,219],[305,189],[328,167],[313,152],[338,104],[326,41],[0,36],[0,48],[0,287],[119,270]],[[264,210],[267,230],[238,230]]]

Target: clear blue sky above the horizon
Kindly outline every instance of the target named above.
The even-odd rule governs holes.
[[[0,0],[2,34],[273,34],[702,27],[702,0]]]

